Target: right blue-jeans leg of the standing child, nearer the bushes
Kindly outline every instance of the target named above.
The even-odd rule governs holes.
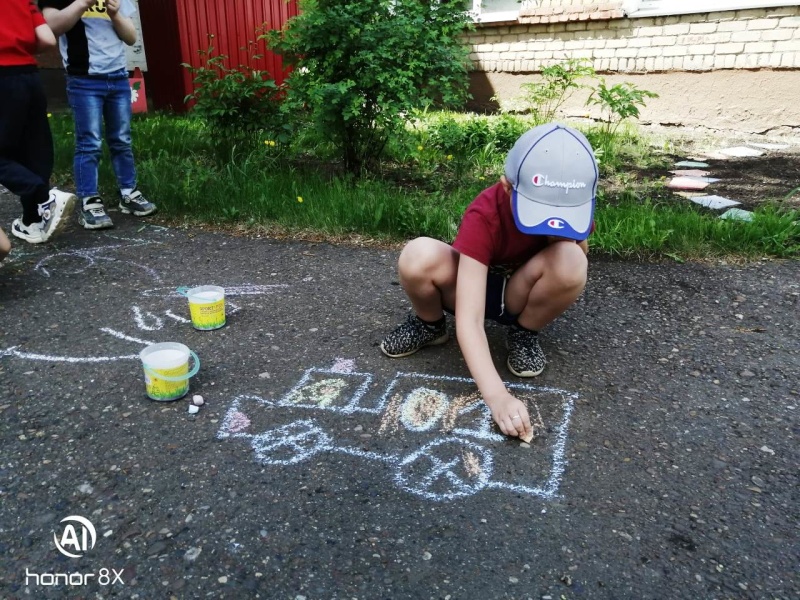
[[[110,90],[103,104],[106,142],[119,189],[130,193],[136,187],[131,140],[131,88],[127,76],[111,79],[108,83]]]

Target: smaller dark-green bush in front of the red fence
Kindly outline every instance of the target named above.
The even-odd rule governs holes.
[[[213,35],[209,36],[213,42]],[[248,43],[254,60],[255,42]],[[194,91],[184,102],[191,103],[192,112],[202,118],[214,134],[240,137],[255,131],[268,132],[285,141],[289,134],[281,117],[283,90],[267,71],[245,65],[230,67],[228,57],[216,54],[213,45],[199,51],[203,64],[193,67],[183,63],[193,77]]]

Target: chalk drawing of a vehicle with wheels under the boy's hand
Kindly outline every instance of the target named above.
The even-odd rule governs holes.
[[[558,494],[577,394],[507,383],[526,402],[535,434],[530,448],[514,451],[510,461],[510,438],[494,429],[472,379],[398,372],[370,400],[372,383],[352,360],[308,369],[277,400],[235,397],[217,437],[246,441],[262,465],[295,465],[323,452],[375,461],[392,471],[399,488],[434,501],[487,489],[547,499]],[[330,426],[337,416],[346,419]],[[512,464],[497,468],[495,456]]]

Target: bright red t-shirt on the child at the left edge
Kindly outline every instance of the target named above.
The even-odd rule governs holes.
[[[0,67],[35,65],[36,34],[44,17],[31,0],[2,0]]]

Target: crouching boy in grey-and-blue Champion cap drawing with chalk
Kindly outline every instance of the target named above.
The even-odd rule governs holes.
[[[492,418],[506,435],[528,437],[527,409],[494,366],[484,320],[508,326],[506,364],[514,375],[544,370],[539,331],[586,285],[597,180],[580,132],[550,123],[522,135],[505,175],[467,207],[452,245],[423,237],[403,249],[400,284],[414,312],[386,336],[383,353],[397,358],[443,344],[443,311],[454,314],[459,347]]]

